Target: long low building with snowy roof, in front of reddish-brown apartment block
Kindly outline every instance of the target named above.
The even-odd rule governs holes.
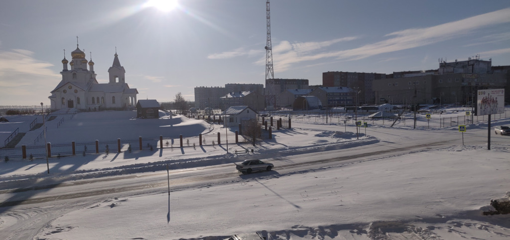
[[[324,107],[345,107],[356,104],[356,92],[350,87],[318,87],[310,96],[317,97]],[[361,96],[358,96],[358,104]]]

